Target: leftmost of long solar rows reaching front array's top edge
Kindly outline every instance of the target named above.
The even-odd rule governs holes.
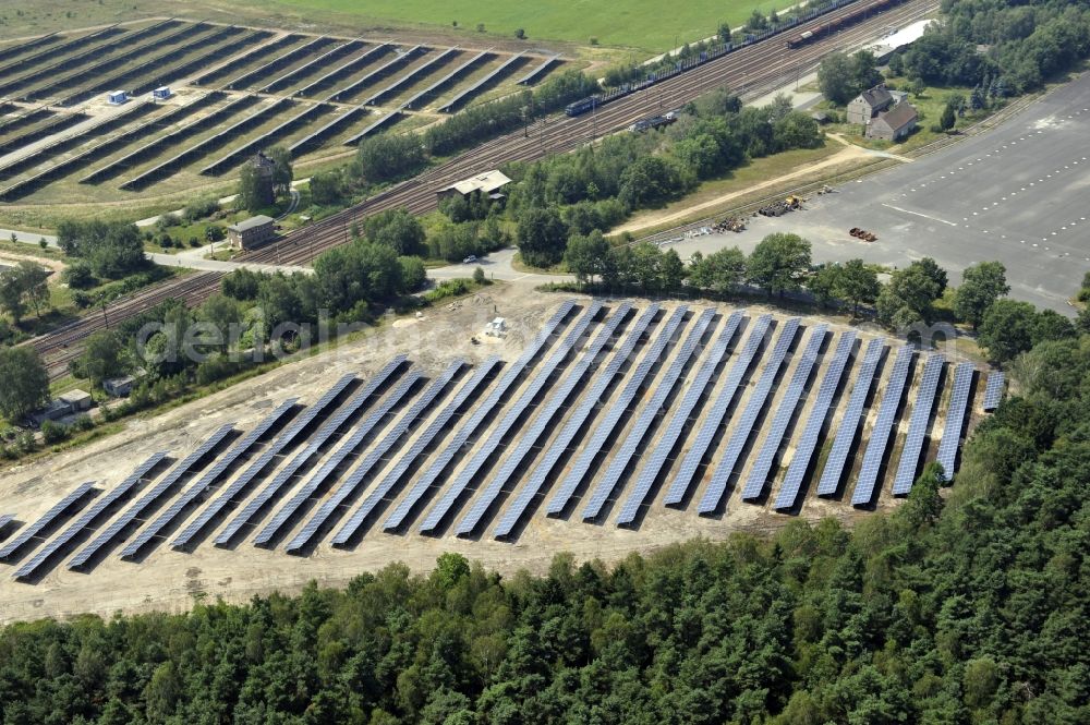
[[[516,360],[510,367],[504,371],[504,374],[496,382],[496,386],[488,394],[488,397],[473,411],[473,413],[467,419],[451,437],[447,446],[436,456],[435,461],[424,474],[416,481],[416,484],[409,491],[405,497],[401,500],[393,512],[386,518],[383,522],[383,528],[387,531],[399,529],[412,513],[413,509],[420,504],[420,498],[432,486],[437,485],[437,481],[443,472],[446,471],[447,466],[450,461],[455,459],[455,456],[469,443],[470,437],[476,433],[477,427],[484,422],[484,420],[492,412],[493,408],[499,403],[500,399],[507,395],[508,389],[514,385],[516,380],[522,375],[526,366],[530,364],[534,358],[545,348],[546,343],[553,337],[556,328],[560,326],[560,323],[571,313],[574,309],[576,303],[572,300],[568,300],[560,309],[554,314],[545,326],[537,333],[537,336],[533,341],[526,346],[526,349],[522,351],[522,355]]]

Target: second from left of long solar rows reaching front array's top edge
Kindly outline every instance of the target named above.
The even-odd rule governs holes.
[[[568,331],[568,335],[565,336],[564,341],[557,347],[556,351],[554,351],[549,359],[542,365],[541,371],[526,385],[522,395],[520,395],[519,398],[511,403],[507,414],[504,415],[499,424],[493,428],[485,443],[477,444],[476,452],[469,460],[469,462],[462,467],[462,469],[458,472],[458,475],[455,478],[453,483],[444,492],[438,503],[432,507],[432,510],[424,518],[424,522],[420,527],[422,532],[434,531],[443,519],[450,512],[450,510],[458,505],[458,502],[469,490],[470,484],[476,478],[477,473],[485,466],[485,463],[494,455],[496,455],[511,428],[526,413],[530,403],[536,400],[537,396],[553,383],[554,373],[561,364],[564,364],[564,361],[571,353],[572,348],[574,348],[576,343],[582,339],[588,327],[590,327],[591,323],[601,310],[602,302],[595,300],[591,303],[588,311],[583,313],[579,321]]]

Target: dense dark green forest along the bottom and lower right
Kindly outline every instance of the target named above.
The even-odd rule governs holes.
[[[852,531],[12,625],[0,722],[1090,722],[1090,335],[1013,374],[948,493]]]

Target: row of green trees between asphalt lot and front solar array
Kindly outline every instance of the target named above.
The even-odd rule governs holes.
[[[931,257],[894,269],[880,281],[880,271],[886,273],[862,259],[814,263],[811,252],[811,243],[798,234],[773,233],[749,255],[737,246],[697,252],[686,265],[673,249],[651,242],[610,244],[592,231],[568,240],[564,261],[582,289],[592,292],[731,298],[758,289],[768,298],[801,294],[852,316],[865,305],[877,322],[898,333],[919,324],[964,323],[996,363],[1045,341],[1090,333],[1086,310],[1073,323],[1053,310],[1006,299],[1010,286],[1000,262],[967,267],[961,285],[949,289],[946,270]],[[1090,274],[1083,289],[1088,291],[1080,294],[1090,298]]]

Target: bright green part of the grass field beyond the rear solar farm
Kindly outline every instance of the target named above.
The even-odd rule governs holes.
[[[249,0],[247,0],[249,1]],[[272,8],[289,7],[352,14],[368,23],[393,26],[414,24],[512,36],[523,28],[531,40],[567,40],[588,45],[597,38],[601,45],[663,51],[678,43],[713,35],[719,23],[740,25],[754,8],[762,11],[775,2],[753,0],[686,0],[677,4],[659,0],[535,0],[520,2],[477,2],[470,0],[277,0]],[[778,3],[785,7],[785,2]]]

